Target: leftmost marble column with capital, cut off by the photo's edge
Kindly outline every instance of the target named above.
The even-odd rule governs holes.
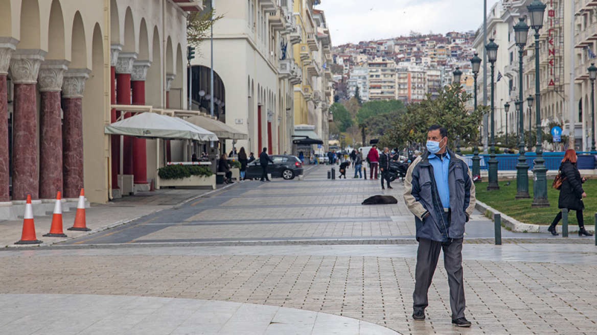
[[[16,41],[2,41],[0,44],[0,204],[10,201],[8,170],[8,100],[7,75],[10,57]]]

